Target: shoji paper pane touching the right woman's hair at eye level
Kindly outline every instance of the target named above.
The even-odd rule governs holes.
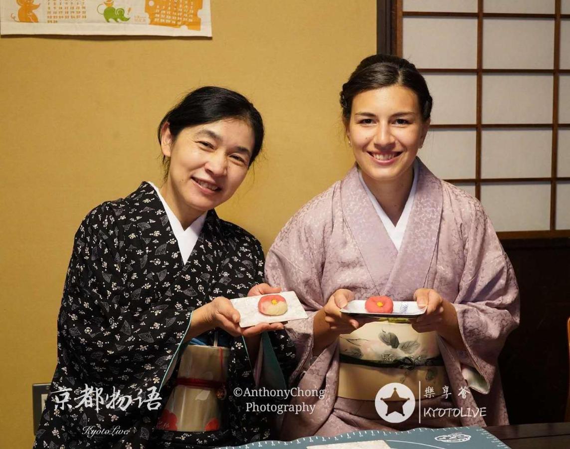
[[[426,74],[433,109],[432,124],[473,124],[477,121],[477,75]]]

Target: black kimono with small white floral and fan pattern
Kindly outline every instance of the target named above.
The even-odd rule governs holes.
[[[215,447],[268,438],[269,416],[246,412],[252,398],[233,394],[236,387],[255,389],[241,337],[232,340],[225,426],[209,432],[156,429],[176,362],[170,382],[166,373],[178,358],[192,310],[217,296],[246,296],[263,282],[263,265],[255,237],[213,210],[184,264],[148,183],[93,209],[75,235],[58,318],[58,364],[34,448]],[[268,336],[287,379],[294,346],[285,331]]]

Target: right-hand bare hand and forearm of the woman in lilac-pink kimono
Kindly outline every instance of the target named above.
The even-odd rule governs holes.
[[[412,327],[416,332],[435,331],[445,338],[455,349],[465,350],[465,343],[459,330],[457,312],[453,304],[444,300],[433,289],[417,289],[414,300],[418,307],[426,307],[425,314],[412,319]]]

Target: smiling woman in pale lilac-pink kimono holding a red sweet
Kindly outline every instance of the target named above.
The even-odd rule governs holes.
[[[288,221],[267,254],[268,282],[295,290],[310,315],[286,327],[298,354],[291,380],[324,390],[295,395],[314,411],[285,415],[282,438],[507,424],[497,358],[518,325],[518,287],[479,201],[417,157],[432,105],[425,79],[405,59],[373,55],[340,103],[356,164]],[[426,313],[365,321],[340,311],[378,295]],[[392,382],[421,399],[397,424],[374,406]]]

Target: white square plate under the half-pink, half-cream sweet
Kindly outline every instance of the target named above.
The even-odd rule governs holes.
[[[238,310],[241,327],[255,326],[259,323],[278,323],[283,321],[293,321],[294,319],[306,319],[307,313],[303,309],[303,305],[295,292],[271,293],[279,294],[287,301],[287,312],[283,315],[264,315],[258,310],[259,299],[267,296],[265,294],[259,296],[248,296],[245,298],[235,298],[230,300],[234,307]]]

